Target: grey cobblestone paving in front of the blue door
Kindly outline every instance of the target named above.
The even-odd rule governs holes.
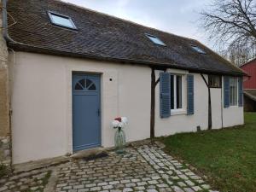
[[[26,183],[26,190],[20,188],[20,181],[19,187],[5,183],[0,191],[43,191],[45,172],[33,185]],[[96,160],[73,160],[55,167],[55,172],[56,192],[214,192],[201,177],[156,146],[127,148],[125,154],[111,152]]]

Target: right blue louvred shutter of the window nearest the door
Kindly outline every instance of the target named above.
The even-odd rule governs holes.
[[[187,114],[194,114],[194,75],[191,74],[187,76],[187,97]]]

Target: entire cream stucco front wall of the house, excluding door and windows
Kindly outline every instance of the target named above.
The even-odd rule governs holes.
[[[54,55],[15,53],[12,91],[13,160],[22,163],[73,153],[72,73],[100,73],[102,81],[102,146],[113,146],[114,117],[126,116],[127,141],[150,135],[151,69],[136,65],[90,61]],[[170,70],[172,73],[186,71]],[[159,72],[156,73],[158,78]],[[113,79],[110,81],[109,79]],[[221,127],[221,90],[212,90],[212,125]],[[195,114],[184,111],[160,119],[159,84],[156,87],[156,136],[207,128],[207,87],[195,74]],[[242,108],[224,109],[224,126],[243,123]],[[236,115],[236,119],[232,118]]]

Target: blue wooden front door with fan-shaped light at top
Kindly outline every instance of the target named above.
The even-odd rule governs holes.
[[[73,74],[73,151],[101,145],[100,76]]]

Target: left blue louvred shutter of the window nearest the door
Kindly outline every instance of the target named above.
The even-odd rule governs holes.
[[[171,116],[171,77],[170,73],[160,73],[160,117]]]

